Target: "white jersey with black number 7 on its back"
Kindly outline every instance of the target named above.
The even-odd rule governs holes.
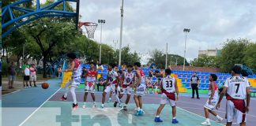
[[[250,87],[247,78],[232,76],[226,80],[224,87],[228,87],[228,95],[235,99],[247,98],[247,87]]]

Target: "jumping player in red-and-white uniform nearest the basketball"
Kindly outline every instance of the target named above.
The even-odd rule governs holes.
[[[75,110],[78,108],[75,90],[81,82],[81,63],[77,59],[76,54],[74,54],[74,53],[66,54],[66,56],[69,57],[69,59],[70,59],[70,68],[65,69],[63,71],[64,72],[73,72],[73,75],[72,75],[72,79],[70,80],[70,82],[66,83],[66,92],[62,96],[61,100],[66,101],[67,94],[70,91],[71,95],[73,97],[73,110]],[[59,70],[59,72],[62,72],[62,71]],[[71,87],[70,87],[70,85],[71,85]]]

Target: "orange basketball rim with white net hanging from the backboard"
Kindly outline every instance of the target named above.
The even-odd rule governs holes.
[[[85,26],[88,38],[94,39],[94,32],[95,32],[98,24],[93,23],[93,22],[79,22],[78,23],[79,28],[81,28],[83,25]]]

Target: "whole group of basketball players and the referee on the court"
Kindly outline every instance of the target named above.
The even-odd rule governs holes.
[[[62,101],[66,101],[68,92],[71,92],[73,98],[73,110],[78,108],[77,98],[75,90],[81,83],[81,76],[85,77],[85,95],[83,108],[86,108],[86,100],[88,93],[91,94],[93,100],[93,106],[96,107],[95,98],[95,87],[97,71],[95,69],[95,64],[90,63],[90,69],[88,71],[84,70],[84,75],[82,75],[81,62],[77,59],[76,55],[73,53],[67,54],[70,58],[70,66],[68,69],[59,70],[58,72],[73,72],[72,79],[66,83],[66,92],[60,98]],[[140,62],[135,62],[134,65],[127,65],[126,69],[122,71],[118,70],[117,65],[109,64],[107,67],[107,80],[106,88],[102,94],[101,108],[104,109],[104,104],[106,101],[106,95],[115,95],[114,107],[119,104],[122,110],[127,111],[127,106],[130,101],[130,96],[134,94],[134,102],[137,106],[135,116],[142,116],[145,112],[143,108],[142,98],[145,95],[146,88],[149,87],[149,79],[145,77],[145,73],[141,69]],[[216,84],[217,76],[215,74],[209,75],[209,99],[205,103],[205,121],[202,125],[210,125],[209,113],[212,113],[217,122],[223,120],[214,109],[220,108],[220,102],[224,95],[227,94],[227,106],[226,106],[226,119],[227,125],[231,126],[233,120],[240,125],[246,124],[246,113],[249,112],[250,106],[250,86],[246,77],[240,76],[242,72],[241,67],[234,66],[232,68],[232,76],[229,77],[224,83],[224,89],[221,91],[220,97],[218,95],[218,87]],[[175,77],[171,76],[171,69],[165,69],[164,74],[159,72],[152,73],[154,76],[161,76],[162,79],[159,81],[159,88],[161,92],[160,106],[156,110],[155,122],[163,122],[160,119],[160,113],[164,108],[165,104],[169,103],[172,108],[172,124],[177,124],[179,121],[176,119],[176,101],[179,100],[179,89],[177,86],[177,81]],[[150,77],[150,76],[149,76]],[[191,87],[198,87],[198,78],[194,75],[191,78]],[[71,87],[70,87],[71,86]],[[134,92],[133,92],[134,91]],[[120,99],[123,95],[127,95],[126,102],[122,106]],[[197,92],[197,97],[198,92]],[[193,98],[193,97],[192,97]],[[246,102],[245,102],[246,101]]]

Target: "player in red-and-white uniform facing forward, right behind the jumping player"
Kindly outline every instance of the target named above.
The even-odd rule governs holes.
[[[84,105],[83,108],[85,109],[85,102],[87,99],[88,93],[91,93],[92,96],[92,101],[93,101],[93,106],[92,108],[96,107],[96,102],[95,102],[95,86],[96,86],[96,80],[97,80],[97,72],[95,70],[95,63],[90,63],[90,69],[86,73],[85,76],[85,95],[84,95]]]

